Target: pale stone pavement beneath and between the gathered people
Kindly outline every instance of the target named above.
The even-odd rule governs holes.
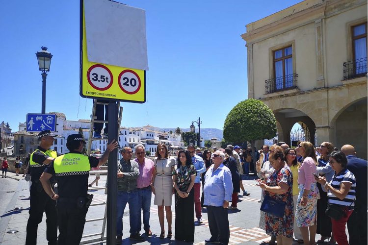
[[[14,245],[14,244],[25,244],[26,240],[26,223],[28,220],[28,210],[29,210],[29,182],[26,182],[21,176],[14,176],[14,173],[8,172],[8,177],[20,180],[18,184],[18,189],[14,193],[12,200],[6,207],[4,214],[1,216],[0,220],[0,244],[1,245]],[[229,210],[229,222],[230,222],[230,242],[229,244],[246,244],[246,245],[258,245],[262,242],[269,241],[270,237],[264,233],[263,230],[258,228],[259,216],[260,216],[260,206],[261,203],[258,201],[261,198],[261,190],[255,185],[253,181],[254,177],[242,176],[243,185],[246,191],[251,193],[251,196],[243,196],[239,198],[237,204],[238,210]],[[95,178],[94,175],[89,177],[89,183]],[[99,186],[105,186],[106,176],[102,175],[99,181]],[[104,202],[106,196],[104,190],[97,190],[89,192],[94,194],[93,203]],[[0,205],[1,205],[0,201]],[[173,233],[175,232],[175,206],[174,201],[172,202],[173,211]],[[2,204],[5,205],[5,204]],[[19,210],[14,209],[19,207]],[[102,218],[105,212],[105,205],[91,206],[88,210],[86,219],[96,219]],[[195,241],[196,245],[203,245],[206,239],[210,238],[210,230],[208,226],[206,209],[203,210],[202,219],[203,223],[195,223]],[[46,240],[46,215],[43,217],[43,221],[38,226],[37,234],[37,244],[47,245]],[[101,233],[103,221],[93,221],[86,222],[84,226],[83,235]],[[184,242],[177,242],[174,239],[159,239],[160,226],[158,222],[158,211],[157,206],[154,205],[154,196],[151,201],[151,217],[150,217],[151,230],[153,232],[152,237],[145,237],[145,242],[139,244],[186,244]],[[129,240],[129,208],[127,208],[123,217],[123,244],[136,244],[136,241]],[[14,234],[8,234],[11,229],[16,229],[18,232]],[[167,222],[165,221],[165,231],[167,235]],[[143,228],[142,228],[143,233]],[[93,239],[99,236],[93,236],[89,238],[82,239]],[[319,236],[317,236],[319,239]],[[100,244],[100,243],[92,243]],[[294,242],[293,245],[297,243]]]

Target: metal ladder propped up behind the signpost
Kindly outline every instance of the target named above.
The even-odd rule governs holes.
[[[96,117],[96,105],[98,104],[102,104],[102,105],[108,105],[108,103],[106,102],[97,102],[97,99],[93,99],[93,108],[92,108],[92,117],[91,117],[91,129],[89,130],[89,138],[88,138],[88,145],[87,145],[87,155],[89,156],[91,154],[91,146],[92,146],[92,141],[93,140],[103,140],[102,138],[93,138],[93,126],[95,123],[108,123],[105,120],[97,120]],[[120,106],[120,102],[118,102],[118,108],[119,108],[119,114],[118,114],[118,132],[117,132],[117,141],[119,141],[119,134],[120,134],[120,123],[121,123],[121,119],[123,116],[123,107]],[[104,139],[106,140],[106,139]],[[107,170],[99,170],[99,171],[90,171],[89,174],[95,174],[95,173],[100,173],[100,174],[107,174]],[[88,191],[90,190],[105,190],[107,189],[107,187],[105,186],[98,186],[98,187],[88,187]],[[106,191],[105,191],[106,193]],[[96,243],[96,242],[103,242],[106,240],[106,236],[105,236],[105,228],[106,228],[106,216],[107,216],[107,198],[106,201],[103,202],[97,202],[97,203],[91,203],[90,207],[92,206],[99,206],[99,205],[105,205],[105,213],[104,213],[104,217],[102,218],[95,218],[95,219],[89,219],[86,220],[85,222],[94,222],[94,221],[103,221],[102,223],[102,231],[98,232],[98,233],[91,233],[91,234],[87,234],[87,235],[83,235],[83,238],[90,238],[90,237],[96,237],[96,236],[100,236],[98,238],[93,238],[93,239],[86,239],[86,240],[81,240],[79,245],[82,244],[90,244],[90,243]]]

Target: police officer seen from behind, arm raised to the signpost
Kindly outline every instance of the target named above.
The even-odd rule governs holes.
[[[66,147],[70,152],[56,157],[40,178],[49,198],[57,200],[59,245],[79,245],[90,204],[88,201],[91,201],[87,194],[89,170],[104,164],[110,151],[118,147],[114,140],[98,159],[81,153],[85,144],[82,135],[69,135]],[[58,195],[49,181],[53,175],[57,181]]]

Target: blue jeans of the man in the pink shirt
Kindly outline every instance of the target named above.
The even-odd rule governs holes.
[[[142,228],[142,220],[140,218],[141,210],[143,210],[143,229],[148,231],[150,229],[151,187],[144,190],[137,190],[137,193],[139,208],[138,231]]]

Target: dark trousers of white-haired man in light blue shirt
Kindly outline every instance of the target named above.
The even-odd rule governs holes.
[[[207,206],[208,224],[210,227],[211,241],[229,244],[230,228],[228,209],[215,206]]]

